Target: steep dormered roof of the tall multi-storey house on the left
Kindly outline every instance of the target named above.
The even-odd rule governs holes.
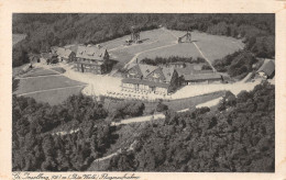
[[[100,48],[98,46],[84,46],[77,47],[76,57],[94,59],[94,60],[105,60],[105,56],[108,54],[106,48]]]

